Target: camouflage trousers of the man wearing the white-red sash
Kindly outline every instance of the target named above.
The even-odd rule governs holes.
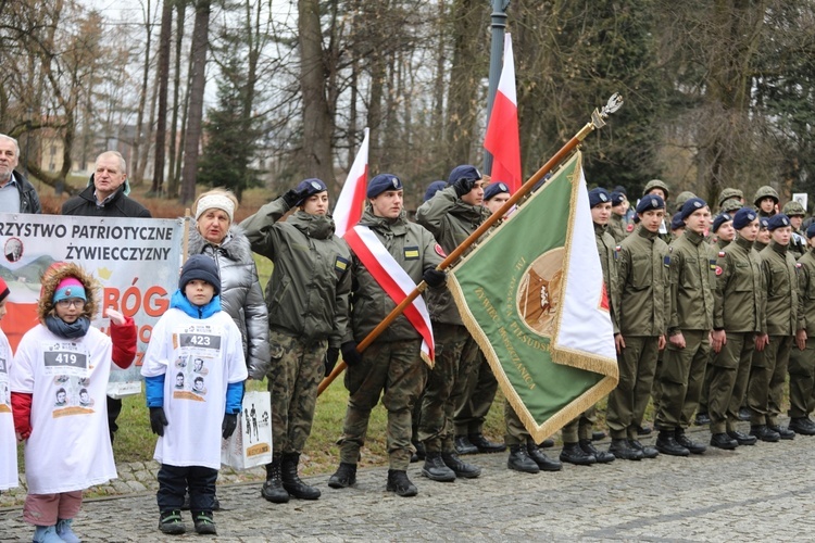
[[[419,356],[422,340],[374,342],[362,353],[362,362],[346,370],[349,392],[342,428],[340,462],[356,464],[365,444],[371,411],[381,395],[388,411],[387,446],[390,469],[406,470],[411,463],[413,407],[427,381]]]

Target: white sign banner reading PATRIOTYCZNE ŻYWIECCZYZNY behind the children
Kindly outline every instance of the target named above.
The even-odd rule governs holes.
[[[37,324],[40,277],[55,262],[74,262],[102,285],[93,326],[108,331],[103,310],[133,317],[138,328],[136,362],[112,366],[108,393],[141,391],[141,357],[153,325],[178,288],[184,219],[96,218],[0,213],[0,276],[9,283],[9,314],[2,327],[12,349]]]

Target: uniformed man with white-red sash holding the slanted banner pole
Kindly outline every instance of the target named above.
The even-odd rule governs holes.
[[[410,279],[423,279],[430,287],[443,285],[446,275],[436,270],[442,251],[424,227],[410,223],[403,205],[402,181],[394,175],[379,174],[368,182],[367,204],[360,227],[367,228]],[[348,235],[346,236],[348,238]],[[377,279],[377,272],[351,252],[351,326],[342,343],[348,364],[346,388],[348,408],[342,429],[340,465],[328,479],[334,489],[356,482],[356,463],[365,443],[371,411],[379,402],[388,411],[388,483],[386,489],[400,496],[415,496],[416,487],[408,479],[411,462],[411,418],[416,399],[427,381],[421,357],[422,336],[404,315],[397,319],[362,354],[362,341],[397,306]]]

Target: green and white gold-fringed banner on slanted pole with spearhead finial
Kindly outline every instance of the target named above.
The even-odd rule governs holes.
[[[448,285],[536,442],[616,387],[614,332],[579,152],[453,268]]]

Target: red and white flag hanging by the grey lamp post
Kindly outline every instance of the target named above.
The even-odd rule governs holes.
[[[498,92],[492,102],[484,148],[492,154],[493,181],[503,181],[515,191],[523,185],[521,179],[521,139],[518,136],[518,101],[515,96],[515,61],[512,55],[512,39],[504,36],[504,66],[498,83]]]

